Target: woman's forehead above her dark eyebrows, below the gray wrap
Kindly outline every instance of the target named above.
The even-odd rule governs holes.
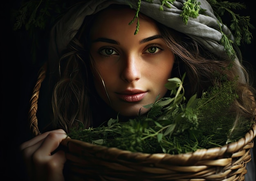
[[[117,35],[122,33],[132,34],[136,30],[137,20],[129,25],[131,20],[135,16],[135,10],[128,6],[122,6],[119,8],[107,8],[100,11],[91,27],[91,36],[103,34],[103,35]],[[142,34],[147,31],[158,31],[155,21],[144,14],[139,14],[139,32]],[[145,32],[144,32],[145,33]]]

